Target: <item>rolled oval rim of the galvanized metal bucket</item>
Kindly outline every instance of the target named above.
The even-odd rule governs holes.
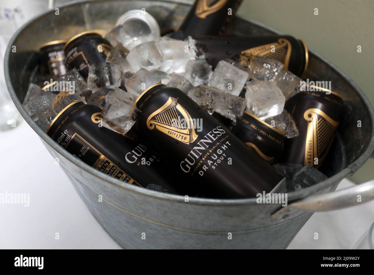
[[[70,6],[77,6],[77,5],[82,5],[82,4],[97,4],[100,2],[105,2],[107,0],[96,0],[96,1],[89,1],[89,0],[77,0],[77,1],[71,1],[69,3],[62,4],[58,6],[59,8],[67,8]],[[177,3],[177,4],[183,4],[183,5],[188,5],[191,6],[192,3],[184,0],[159,0],[160,2],[165,2],[165,3]],[[93,174],[95,177],[99,178],[102,180],[103,184],[111,184],[117,188],[124,189],[127,192],[133,192],[133,193],[138,193],[139,195],[145,195],[161,200],[168,200],[168,201],[174,201],[174,202],[183,202],[184,203],[184,196],[183,195],[173,195],[173,194],[168,194],[168,193],[161,193],[145,188],[139,188],[137,186],[132,186],[131,184],[126,184],[122,185],[120,182],[118,182],[117,179],[111,178],[108,175],[99,172],[98,170],[92,168],[88,164],[85,164],[83,161],[80,161],[77,158],[74,158],[73,155],[71,155],[69,152],[66,150],[62,149],[58,144],[52,140],[28,115],[24,107],[22,106],[21,101],[19,101],[13,86],[12,82],[10,80],[10,71],[9,71],[9,58],[11,54],[11,49],[12,45],[15,45],[15,41],[18,39],[18,37],[34,22],[40,20],[41,18],[45,17],[46,15],[49,15],[50,13],[53,13],[54,10],[47,10],[46,12],[43,12],[40,15],[37,15],[27,22],[25,22],[11,37],[6,53],[4,56],[4,75],[5,75],[5,82],[6,86],[8,89],[8,92],[10,94],[10,97],[12,98],[13,103],[15,104],[16,108],[18,109],[19,113],[21,116],[25,119],[25,121],[28,123],[28,125],[31,126],[31,128],[39,135],[39,137],[45,141],[48,146],[50,146],[53,150],[58,152],[60,155],[62,155],[65,159],[70,161],[73,165],[78,166],[80,169],[84,170],[85,172],[89,174]],[[267,30],[272,31],[274,34],[281,34],[280,32],[273,30],[270,27],[267,27],[266,25],[259,23],[254,20],[246,19],[243,18],[242,16],[236,15],[237,18],[240,18],[243,21],[250,22],[251,24],[258,25],[262,28],[265,28]],[[303,189],[297,192],[291,192],[288,193],[288,200],[294,201],[297,199],[305,198],[306,196],[312,195],[316,191],[320,189],[324,189],[325,187],[331,186],[334,183],[340,182],[344,177],[347,175],[353,174],[359,167],[361,167],[367,160],[370,158],[370,155],[374,151],[374,109],[373,106],[371,106],[370,101],[366,97],[366,95],[362,92],[362,90],[356,85],[355,82],[353,82],[352,79],[350,79],[346,74],[344,74],[340,69],[338,69],[334,64],[332,64],[330,61],[322,57],[321,55],[317,54],[313,50],[309,48],[310,54],[315,55],[317,58],[321,59],[323,62],[329,65],[333,70],[337,71],[337,73],[343,77],[351,86],[353,89],[355,89],[365,104],[365,106],[368,109],[368,112],[370,113],[370,119],[371,119],[371,124],[372,124],[372,133],[371,133],[371,139],[370,142],[367,146],[367,149],[362,153],[362,155],[357,158],[354,162],[349,164],[346,168],[342,169],[340,172],[337,174],[333,175],[332,177],[327,178],[324,181],[321,181],[318,184],[315,184],[311,187],[308,187],[307,189]],[[249,205],[249,204],[254,204],[256,203],[257,198],[247,198],[247,199],[211,199],[211,198],[195,198],[195,197],[190,197],[189,204],[194,204],[194,205],[213,205],[213,206],[222,206],[222,205]]]

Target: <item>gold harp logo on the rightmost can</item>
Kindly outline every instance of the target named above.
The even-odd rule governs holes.
[[[306,110],[304,119],[308,122],[304,165],[318,167],[326,158],[339,122],[315,108]],[[314,165],[315,158],[318,165]]]

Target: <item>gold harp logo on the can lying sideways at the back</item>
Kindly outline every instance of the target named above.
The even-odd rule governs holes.
[[[272,48],[272,46],[274,46]],[[272,51],[273,50],[273,51]],[[257,46],[251,49],[246,49],[241,52],[241,59],[243,63],[246,63],[248,58],[254,56],[265,56],[284,64],[284,70],[288,70],[289,57],[291,56],[291,43],[287,39],[279,38],[278,42],[269,43],[261,46]]]

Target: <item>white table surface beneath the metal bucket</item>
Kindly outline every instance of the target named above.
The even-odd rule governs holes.
[[[0,193],[30,193],[29,207],[0,204],[0,248],[121,248],[26,122],[0,132],[0,144]],[[344,179],[338,188],[352,185]],[[374,202],[315,213],[289,248],[352,248],[373,221]]]

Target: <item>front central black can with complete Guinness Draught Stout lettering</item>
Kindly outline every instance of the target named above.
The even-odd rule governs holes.
[[[152,85],[135,105],[135,133],[203,196],[250,198],[284,184],[282,174],[179,89]]]

